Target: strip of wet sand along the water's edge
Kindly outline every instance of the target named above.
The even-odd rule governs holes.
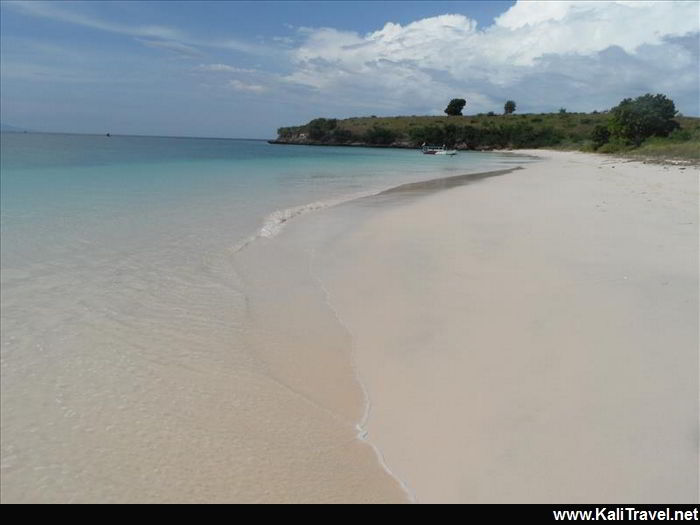
[[[392,468],[382,448],[368,433],[372,399],[356,365],[352,331],[335,309],[321,279],[323,272],[317,255],[323,251],[329,237],[343,237],[354,230],[358,222],[374,215],[377,205],[380,210],[402,206],[412,200],[407,199],[409,196],[439,192],[519,169],[522,168],[516,166],[435,177],[328,206],[311,206],[312,213],[293,214],[280,224],[275,235],[252,236],[234,250],[234,266],[247,287],[248,309],[255,312],[252,324],[264,332],[260,338],[248,340],[248,345],[272,367],[273,376],[280,383],[334,413],[339,422],[345,421],[343,426],[351,426],[353,442],[362,449],[368,447],[377,466],[388,476],[382,480],[374,473],[371,477],[380,501],[417,503],[418,498],[410,483]],[[387,201],[387,197],[391,200]],[[285,213],[280,215],[286,216]],[[290,315],[289,305],[280,303],[280,296],[294,296],[295,304],[304,307]],[[287,358],[280,359],[277,350],[271,351],[280,344],[271,341],[284,341],[284,353],[295,356],[294,363]],[[333,348],[340,349],[341,354],[334,355]],[[395,497],[396,489],[401,491],[402,498]],[[359,502],[358,496],[348,493],[346,501]]]

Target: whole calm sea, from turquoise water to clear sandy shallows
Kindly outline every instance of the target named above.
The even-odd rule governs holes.
[[[44,133],[0,146],[4,502],[410,500],[362,442],[351,337],[303,257],[260,246],[402,184],[526,160]]]

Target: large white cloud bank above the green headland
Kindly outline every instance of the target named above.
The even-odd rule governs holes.
[[[300,29],[289,83],[344,102],[439,112],[453,96],[471,111],[506,98],[537,111],[610,107],[664,92],[698,112],[696,2],[522,2],[485,29],[446,14],[389,22],[360,35]]]

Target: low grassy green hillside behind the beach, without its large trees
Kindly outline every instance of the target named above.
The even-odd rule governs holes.
[[[557,148],[593,150],[591,135],[610,115],[540,113],[511,115],[356,117],[314,119],[303,126],[280,128],[278,141],[297,144],[419,147],[446,144],[458,149]],[[598,151],[650,157],[700,159],[700,119],[677,117],[680,129],[670,137],[652,137],[640,147],[610,142]]]

